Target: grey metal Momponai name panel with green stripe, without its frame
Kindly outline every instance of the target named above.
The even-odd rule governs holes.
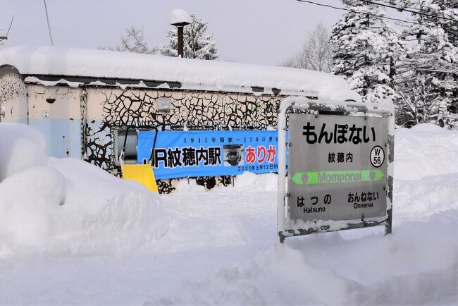
[[[290,114],[290,221],[385,216],[388,119]]]

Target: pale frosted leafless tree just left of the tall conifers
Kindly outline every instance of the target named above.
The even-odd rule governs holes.
[[[314,30],[307,34],[302,49],[284,61],[282,66],[330,72],[332,59],[329,36],[329,31],[323,23],[318,23]]]

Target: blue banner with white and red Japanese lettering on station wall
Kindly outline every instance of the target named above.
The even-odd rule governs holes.
[[[149,163],[155,134],[138,133],[138,164]],[[158,179],[277,172],[277,155],[276,130],[158,132],[152,154]]]

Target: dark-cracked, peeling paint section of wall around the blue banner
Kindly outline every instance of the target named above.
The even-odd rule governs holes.
[[[170,111],[160,111],[158,99],[171,99]],[[87,161],[120,176],[114,154],[114,130],[251,130],[277,125],[283,97],[178,90],[87,88]],[[159,181],[162,192],[175,180]],[[230,178],[199,178],[207,186],[230,183]]]

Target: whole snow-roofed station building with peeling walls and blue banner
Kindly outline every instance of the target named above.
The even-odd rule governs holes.
[[[256,164],[261,172],[275,171],[266,164],[269,146],[262,145],[275,140],[261,132],[275,133],[278,106],[289,96],[361,101],[339,76],[296,68],[60,47],[0,51],[1,122],[40,130],[51,157],[84,159],[116,176],[121,150],[131,164],[149,162],[151,153],[163,168],[156,174],[160,192],[171,192],[184,177],[207,188],[228,185],[233,175],[255,169],[247,153],[262,161]],[[162,155],[151,144],[140,152],[140,142],[152,135],[156,148],[173,137],[193,143],[168,145]],[[209,147],[221,140],[224,149]],[[251,145],[255,140],[261,145]],[[176,159],[190,153],[194,161]],[[180,171],[167,169],[173,164]],[[187,171],[192,166],[215,167]]]

